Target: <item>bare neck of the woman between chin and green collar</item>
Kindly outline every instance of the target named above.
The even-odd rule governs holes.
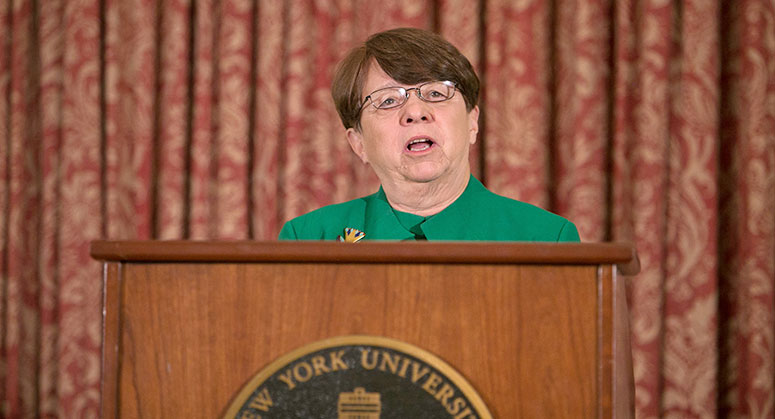
[[[455,202],[468,186],[470,176],[470,172],[466,171],[444,182],[383,183],[382,189],[394,209],[427,217],[438,214]]]

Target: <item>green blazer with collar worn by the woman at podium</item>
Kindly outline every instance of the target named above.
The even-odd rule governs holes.
[[[577,242],[576,226],[559,215],[487,190],[471,176],[460,197],[440,213],[421,217],[396,211],[382,188],[373,195],[329,205],[294,218],[280,240],[337,240],[344,230],[363,240]]]

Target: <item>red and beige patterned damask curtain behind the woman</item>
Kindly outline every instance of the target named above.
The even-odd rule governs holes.
[[[273,239],[372,192],[329,94],[370,33],[484,83],[475,173],[630,241],[641,418],[775,414],[771,0],[6,0],[1,417],[99,412],[94,239]]]

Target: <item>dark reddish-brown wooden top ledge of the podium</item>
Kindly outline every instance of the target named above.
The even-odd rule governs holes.
[[[616,264],[625,275],[640,270],[635,248],[626,243],[97,240],[90,254],[112,262]]]

